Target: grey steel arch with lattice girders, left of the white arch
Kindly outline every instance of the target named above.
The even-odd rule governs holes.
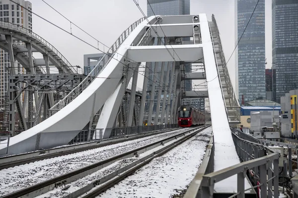
[[[9,54],[4,60],[7,65],[3,63],[3,66],[9,71],[9,110],[5,109],[4,114],[10,118],[4,120],[1,130],[15,135],[49,117],[45,109],[73,90],[81,76],[55,47],[22,26],[0,21],[0,48]],[[36,53],[41,53],[43,58],[34,58]],[[59,75],[53,75],[50,67],[57,68]]]

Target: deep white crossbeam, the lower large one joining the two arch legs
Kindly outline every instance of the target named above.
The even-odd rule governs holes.
[[[203,58],[203,46],[202,44],[130,46],[128,58],[136,62],[195,61]]]

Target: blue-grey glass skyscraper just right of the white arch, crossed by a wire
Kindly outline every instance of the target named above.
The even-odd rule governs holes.
[[[235,0],[236,44],[258,0]],[[236,90],[240,103],[265,99],[265,0],[260,0],[236,51]],[[238,81],[238,82],[237,82]]]

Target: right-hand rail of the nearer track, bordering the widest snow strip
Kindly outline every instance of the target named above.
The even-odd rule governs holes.
[[[147,155],[145,157],[142,157],[141,159],[127,165],[126,167],[123,167],[120,170],[116,170],[114,173],[111,173],[111,174],[97,180],[97,181],[99,181],[98,183],[100,183],[102,185],[100,187],[96,188],[95,190],[87,193],[86,195],[83,195],[81,198],[94,198],[96,196],[99,196],[104,191],[108,190],[109,188],[111,188],[115,184],[117,184],[120,181],[124,180],[129,175],[133,174],[135,171],[137,171],[141,167],[148,164],[152,159],[167,153],[168,151],[170,151],[173,148],[181,145],[182,143],[186,142],[187,140],[194,137],[199,132],[202,132],[204,129],[206,129],[208,127],[209,126],[203,127],[201,129],[196,129],[196,130],[194,130],[194,132],[192,134],[184,136],[180,140],[177,140],[177,141],[171,143],[170,145],[167,145],[163,148],[160,148],[160,149],[150,153],[149,155]],[[84,193],[84,192],[82,192],[82,193]],[[77,194],[75,196],[77,196]],[[71,198],[71,197],[73,197],[73,195],[65,196],[64,198]]]

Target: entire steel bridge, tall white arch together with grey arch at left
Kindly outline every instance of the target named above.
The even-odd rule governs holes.
[[[173,126],[177,123],[176,111],[183,99],[208,98],[214,134],[211,144],[215,147],[207,149],[205,157],[212,156],[213,161],[208,160],[201,175],[208,170],[215,173],[210,177],[204,176],[207,182],[201,190],[210,197],[213,190],[221,192],[221,184],[224,183],[229,184],[224,187],[229,192],[237,192],[238,189],[244,194],[244,187],[250,187],[243,175],[244,165],[239,165],[243,170],[236,170],[236,174],[239,172],[237,177],[231,174],[227,174],[228,178],[219,176],[219,170],[238,166],[238,154],[246,145],[238,143],[235,140],[237,133],[232,136],[230,130],[231,125],[240,121],[240,106],[231,85],[214,16],[212,21],[207,20],[206,14],[142,18],[123,32],[84,78],[57,49],[31,31],[0,22],[0,35],[0,48],[9,52],[11,60],[6,100],[8,129],[14,133],[17,112],[24,130],[8,139],[9,144],[3,141],[0,153],[17,154],[67,145],[82,133],[89,141],[97,129],[102,130],[103,138],[111,137],[115,127],[130,127],[130,132],[132,129],[138,132],[145,119],[154,121],[154,125],[149,126],[152,130],[163,128],[163,123],[167,127]],[[42,53],[43,59],[34,59],[32,52]],[[24,66],[26,74],[17,73],[15,60]],[[152,62],[161,62],[161,71],[156,66],[151,71],[153,83],[148,96],[148,74]],[[59,74],[51,74],[50,65],[55,66]],[[196,67],[198,72],[186,73],[185,67],[189,65]],[[141,67],[145,69],[142,90],[136,86],[138,73],[142,73]],[[165,75],[157,78],[158,72]],[[205,86],[186,91],[186,80],[202,80]],[[22,103],[21,94],[27,101]],[[155,98],[157,105],[153,111]],[[149,100],[148,108],[145,108],[146,100]],[[24,111],[28,114],[27,120]],[[237,150],[234,142],[237,142]],[[247,155],[241,160],[250,160],[251,157]],[[262,160],[256,165],[262,166],[261,170],[265,163]],[[277,155],[273,153],[266,163],[276,163],[276,160]],[[208,178],[222,181],[215,185]],[[241,186],[237,185],[237,179]],[[266,185],[263,185],[264,188]]]

